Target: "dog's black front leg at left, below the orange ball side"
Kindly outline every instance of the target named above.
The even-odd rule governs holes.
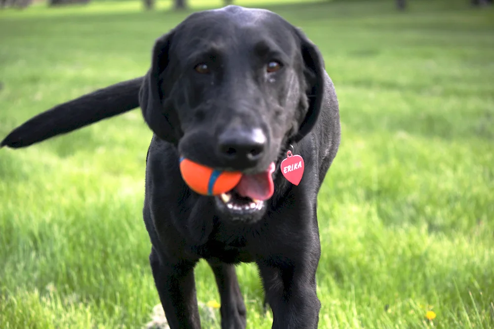
[[[170,329],[201,329],[194,266],[196,262],[162,258],[152,248],[149,260]]]

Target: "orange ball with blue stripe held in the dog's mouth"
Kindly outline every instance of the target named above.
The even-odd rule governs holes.
[[[240,182],[242,173],[219,171],[180,157],[180,173],[191,189],[203,195],[220,195]]]

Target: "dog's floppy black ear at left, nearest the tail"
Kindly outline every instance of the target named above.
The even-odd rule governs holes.
[[[165,83],[172,83],[170,78],[167,78],[171,74],[166,72],[172,38],[173,31],[158,38],[155,42],[151,68],[144,76],[139,91],[139,105],[144,120],[155,135],[176,145],[181,135],[180,124],[173,103],[168,99],[169,95],[165,95],[163,90]]]

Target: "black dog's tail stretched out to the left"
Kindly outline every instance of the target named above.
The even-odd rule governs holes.
[[[139,107],[142,80],[141,76],[122,81],[46,110],[11,131],[0,147],[30,146],[133,110]]]

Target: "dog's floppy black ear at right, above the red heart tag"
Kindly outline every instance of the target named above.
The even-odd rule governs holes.
[[[300,29],[294,28],[294,30],[296,37],[300,40],[300,52],[304,65],[305,92],[307,95],[307,99],[302,100],[301,105],[306,107],[308,103],[307,112],[299,126],[298,133],[291,139],[296,143],[314,128],[319,117],[325,90],[325,67],[323,56],[316,45]]]

